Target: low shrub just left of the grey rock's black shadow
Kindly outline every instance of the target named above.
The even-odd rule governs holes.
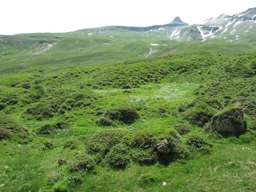
[[[132,153],[132,160],[138,162],[138,164],[150,165],[157,162],[157,153],[154,150],[147,149],[134,150]]]

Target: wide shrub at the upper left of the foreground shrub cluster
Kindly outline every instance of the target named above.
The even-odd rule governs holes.
[[[107,154],[110,149],[122,142],[125,132],[120,129],[110,129],[100,131],[89,138],[87,142],[87,151],[89,153],[102,153]]]

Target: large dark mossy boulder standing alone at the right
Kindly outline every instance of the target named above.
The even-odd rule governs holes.
[[[244,109],[239,106],[218,112],[211,118],[207,129],[224,137],[244,134],[246,132]]]

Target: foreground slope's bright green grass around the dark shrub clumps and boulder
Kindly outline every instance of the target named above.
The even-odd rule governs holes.
[[[54,49],[59,53],[58,47]],[[39,57],[50,54],[53,53],[45,53]],[[255,76],[245,78],[244,73],[240,74],[239,70],[225,71],[228,66],[233,69],[233,64],[247,67],[254,60],[255,53],[184,53],[108,66],[80,66],[72,71],[61,70],[58,73],[39,75],[34,74],[37,68],[31,65],[28,67],[31,74],[13,74],[12,78],[1,76],[1,98],[11,96],[18,99],[18,104],[7,106],[3,112],[20,120],[31,131],[60,119],[68,120],[71,124],[69,131],[48,137],[36,136],[33,142],[21,148],[17,148],[17,143],[1,141],[0,184],[5,184],[0,188],[1,191],[52,191],[53,186],[47,182],[50,173],[60,171],[61,182],[69,175],[66,166],[58,166],[59,158],[64,158],[69,163],[76,153],[84,152],[84,143],[91,134],[105,129],[97,124],[97,108],[105,111],[121,106],[138,109],[140,120],[131,126],[116,124],[113,128],[161,134],[173,130],[177,123],[185,123],[191,127],[190,134],[200,133],[211,140],[214,144],[213,152],[208,155],[198,153],[192,159],[173,161],[169,166],[138,166],[130,163],[127,169],[121,171],[97,166],[95,172],[83,177],[82,184],[69,187],[71,191],[255,191],[255,138],[246,140],[250,134],[246,134],[244,139],[211,137],[203,128],[190,124],[178,113],[178,106],[200,98],[198,92],[204,91],[204,88],[211,90],[208,85],[223,77],[227,78],[225,82],[230,82],[228,85],[234,86],[234,90],[238,88],[236,86],[239,82],[245,82],[246,86],[255,83]],[[55,66],[53,69],[56,69]],[[233,80],[238,83],[233,84]],[[28,93],[24,93],[21,85],[23,82],[34,85],[36,81],[45,88],[46,94],[39,101],[26,104],[23,99]],[[132,86],[131,93],[124,93],[122,85]],[[140,87],[136,88],[138,85]],[[248,92],[246,86],[240,88],[241,92]],[[64,115],[56,113],[54,118],[43,120],[30,119],[24,115],[26,109],[34,104],[54,104],[61,97],[68,98],[75,92],[88,93],[89,90],[92,91],[89,94],[97,97],[96,100],[90,100],[89,107],[74,108]],[[234,90],[220,89],[213,93],[216,93],[214,97],[218,99],[222,93],[236,96]],[[207,96],[210,94],[209,91],[205,92]],[[255,91],[248,93],[255,96]],[[159,107],[165,107],[168,115],[159,114]],[[64,141],[70,137],[79,140],[77,150],[63,148]],[[184,142],[186,138],[187,135],[182,138]],[[48,140],[53,140],[54,148],[42,150],[42,145]],[[139,177],[142,174],[153,174],[155,180],[151,183],[140,183]],[[162,186],[163,181],[167,182],[166,187]]]

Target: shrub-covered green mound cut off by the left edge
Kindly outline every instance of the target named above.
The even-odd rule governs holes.
[[[18,123],[17,120],[8,115],[0,114],[0,140],[11,139],[18,143],[31,141],[31,134],[28,128]]]

